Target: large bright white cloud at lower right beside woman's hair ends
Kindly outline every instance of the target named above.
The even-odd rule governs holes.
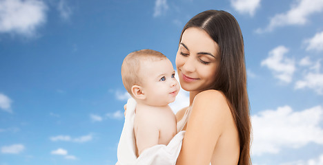
[[[291,107],[261,111],[252,116],[253,155],[280,153],[284,148],[300,148],[310,142],[323,144],[323,107],[303,111]]]

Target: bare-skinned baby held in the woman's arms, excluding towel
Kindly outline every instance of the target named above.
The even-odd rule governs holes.
[[[134,132],[137,157],[157,144],[167,145],[176,135],[176,118],[168,104],[179,92],[172,63],[155,50],[139,50],[124,58],[124,87],[136,100]]]

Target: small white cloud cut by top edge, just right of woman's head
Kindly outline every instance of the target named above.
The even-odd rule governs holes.
[[[242,14],[253,16],[255,10],[260,7],[261,0],[231,0],[231,6]]]

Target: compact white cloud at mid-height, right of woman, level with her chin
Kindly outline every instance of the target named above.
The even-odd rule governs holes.
[[[278,46],[269,52],[268,58],[262,61],[261,65],[271,69],[275,78],[284,83],[291,83],[295,72],[295,62],[291,58],[284,57],[287,52],[286,47]]]

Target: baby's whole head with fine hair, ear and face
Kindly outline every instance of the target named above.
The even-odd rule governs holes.
[[[172,63],[155,50],[131,52],[124,58],[121,77],[128,93],[144,104],[164,106],[179,91]]]

